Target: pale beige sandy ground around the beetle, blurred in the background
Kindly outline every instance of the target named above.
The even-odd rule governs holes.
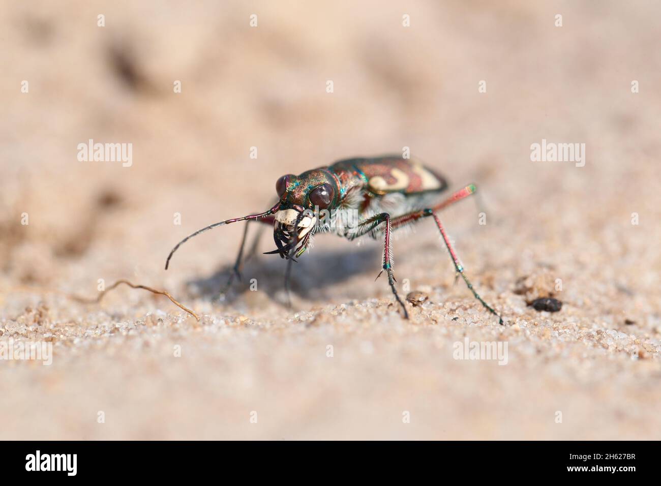
[[[661,438],[660,5],[301,4],[0,7],[0,341],[53,352],[0,360],[0,438]],[[78,161],[89,139],[132,143],[131,167]],[[584,167],[531,161],[542,139],[585,143]],[[240,225],[163,270],[280,175],[402,147],[478,184],[486,209],[443,220],[506,325],[453,285],[431,222],[394,242],[399,283],[429,296],[410,321],[374,282],[378,241],[317,237],[291,310],[274,255],[219,302]],[[67,297],[118,278],[203,317]],[[526,305],[550,292],[561,311]],[[465,339],[506,364],[455,359]]]

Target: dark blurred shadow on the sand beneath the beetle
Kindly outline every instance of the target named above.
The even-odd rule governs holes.
[[[305,300],[327,297],[327,288],[346,282],[358,274],[369,271],[377,273],[381,270],[379,255],[382,251],[378,246],[367,246],[348,252],[338,250],[304,254],[292,264],[292,295]],[[196,296],[217,300],[221,289],[227,285],[233,266],[233,263],[223,265],[208,277],[188,280],[186,286]],[[282,296],[284,292],[286,269],[287,261],[278,255],[255,255],[244,264],[241,280],[234,279],[223,302],[235,302],[245,292],[249,292],[251,286],[256,285],[260,292],[266,292],[270,300],[282,304],[278,295]]]

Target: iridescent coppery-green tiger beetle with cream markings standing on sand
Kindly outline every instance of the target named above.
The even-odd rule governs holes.
[[[278,254],[288,260],[285,289],[289,296],[292,262],[310,247],[311,238],[316,231],[334,231],[349,241],[364,235],[375,238],[380,233],[384,239],[383,268],[377,278],[384,271],[387,273],[395,300],[401,305],[404,317],[408,319],[407,309],[395,288],[391,233],[395,229],[430,217],[441,233],[457,276],[461,275],[473,296],[498,317],[498,322],[502,325],[502,317],[486,304],[468,280],[447,237],[446,229],[438,218],[439,212],[475,194],[477,188],[475,184],[469,184],[439,202],[439,194],[446,189],[447,180],[444,177],[424,167],[422,163],[404,159],[399,155],[346,159],[301,175],[284,175],[276,182],[278,202],[272,208],[260,214],[214,223],[188,235],[170,252],[165,269],[167,270],[175,251],[192,237],[229,223],[258,221],[273,225],[276,249],[266,254]],[[347,224],[352,214],[356,216],[354,224]],[[240,276],[247,231],[246,225],[227,287],[231,285],[235,275]]]

